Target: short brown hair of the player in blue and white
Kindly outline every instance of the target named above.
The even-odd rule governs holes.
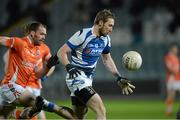
[[[98,25],[99,21],[103,21],[105,23],[105,22],[107,22],[108,18],[115,19],[115,15],[113,13],[111,13],[110,10],[107,10],[107,9],[101,10],[97,13],[95,20],[94,20],[94,24]]]

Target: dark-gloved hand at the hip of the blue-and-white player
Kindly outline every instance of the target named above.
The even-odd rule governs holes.
[[[69,79],[73,79],[79,75],[81,75],[80,71],[72,64],[67,64],[66,71],[69,73]]]

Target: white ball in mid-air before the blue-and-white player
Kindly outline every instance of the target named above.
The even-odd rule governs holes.
[[[142,57],[136,51],[128,51],[123,55],[123,65],[128,70],[138,70],[142,65]]]

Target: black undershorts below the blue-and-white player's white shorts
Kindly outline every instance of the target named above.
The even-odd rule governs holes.
[[[83,88],[80,91],[75,91],[75,96],[71,96],[72,105],[86,106],[87,101],[96,94],[96,91],[91,87]]]

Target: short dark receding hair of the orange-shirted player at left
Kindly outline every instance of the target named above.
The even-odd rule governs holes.
[[[44,25],[40,22],[32,22],[32,23],[25,25],[25,27],[24,27],[25,35],[28,35],[31,31],[36,31],[39,28],[39,26],[43,26],[44,28],[47,28],[46,25]]]

